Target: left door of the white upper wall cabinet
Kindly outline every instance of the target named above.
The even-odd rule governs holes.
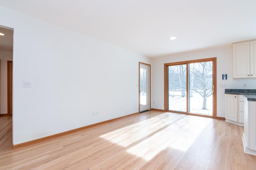
[[[233,44],[233,78],[250,77],[250,43]]]

